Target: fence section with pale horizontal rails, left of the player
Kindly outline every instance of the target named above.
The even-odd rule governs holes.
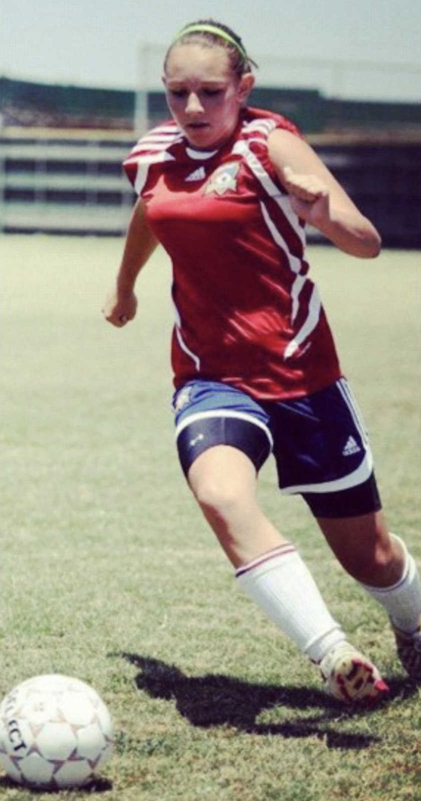
[[[0,135],[0,228],[121,235],[133,204],[122,171],[133,135],[5,129]]]

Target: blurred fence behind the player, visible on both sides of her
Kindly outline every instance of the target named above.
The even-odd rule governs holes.
[[[122,235],[134,195],[122,161],[134,135],[115,131],[0,132],[0,229]],[[421,142],[315,136],[316,151],[389,247],[421,248]],[[316,231],[309,239],[321,239]]]

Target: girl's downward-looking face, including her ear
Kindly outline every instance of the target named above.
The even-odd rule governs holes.
[[[175,122],[198,150],[230,139],[254,83],[251,73],[233,73],[224,47],[193,43],[174,45],[162,80]]]

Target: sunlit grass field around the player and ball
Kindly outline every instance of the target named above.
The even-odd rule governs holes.
[[[139,310],[100,314],[121,240],[0,239],[2,673],[90,682],[116,744],[90,791],[0,797],[104,801],[421,799],[420,692],[385,614],[335,563],[299,498],[261,474],[333,614],[391,685],[343,710],[317,671],[235,586],[183,483],[168,364],[170,271],[158,253]],[[310,248],[343,369],[363,408],[392,530],[421,564],[419,253],[374,262]]]

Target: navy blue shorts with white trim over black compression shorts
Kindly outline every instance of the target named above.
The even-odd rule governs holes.
[[[219,381],[174,393],[178,457],[185,475],[205,450],[231,445],[259,472],[273,453],[283,494],[301,494],[315,517],[381,509],[363,418],[347,380],[294,400],[261,402]]]

